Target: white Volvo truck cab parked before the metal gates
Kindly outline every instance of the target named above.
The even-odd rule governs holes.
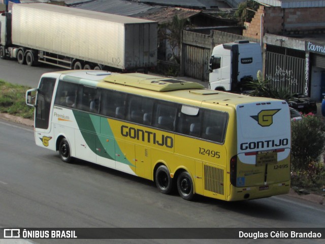
[[[241,91],[245,81],[256,79],[262,71],[262,51],[259,43],[247,40],[217,45],[209,61],[209,88]]]

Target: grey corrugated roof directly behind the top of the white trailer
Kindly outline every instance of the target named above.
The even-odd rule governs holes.
[[[110,14],[118,14],[124,16],[135,15],[146,12],[150,9],[154,9],[155,6],[149,6],[145,4],[139,4],[136,2],[124,1],[124,0],[96,0],[87,3],[74,5],[74,8],[86,9]]]

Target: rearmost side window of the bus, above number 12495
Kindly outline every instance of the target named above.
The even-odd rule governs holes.
[[[223,112],[205,110],[202,138],[222,143],[225,136],[228,115]]]

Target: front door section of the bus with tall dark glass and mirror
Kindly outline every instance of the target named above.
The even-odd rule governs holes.
[[[37,96],[35,102],[35,139],[39,146],[47,147],[49,149],[55,148],[55,141],[53,132],[51,130],[50,114],[52,111],[52,97],[56,78],[42,77],[39,88],[37,89]],[[32,97],[32,89],[26,92],[26,98]],[[30,93],[28,93],[30,92]],[[30,100],[29,100],[30,101]],[[27,105],[31,106],[30,103]],[[55,149],[54,149],[55,150]]]

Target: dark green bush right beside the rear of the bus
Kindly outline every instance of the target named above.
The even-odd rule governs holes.
[[[305,115],[291,124],[291,157],[293,171],[311,172],[325,148],[325,127],[314,115]],[[311,172],[312,173],[312,172]]]

